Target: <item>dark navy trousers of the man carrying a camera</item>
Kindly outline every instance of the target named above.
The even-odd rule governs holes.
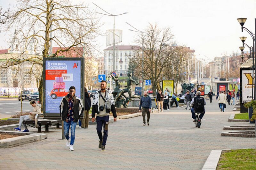
[[[97,116],[96,123],[97,123],[97,133],[99,136],[100,141],[102,141],[102,145],[105,146],[108,138],[108,120],[109,116]],[[107,124],[107,125],[106,125]],[[102,125],[103,125],[103,137],[102,137]]]

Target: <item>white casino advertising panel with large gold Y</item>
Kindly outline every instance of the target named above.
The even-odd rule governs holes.
[[[246,103],[252,100],[252,70],[242,70],[242,81],[242,103]]]

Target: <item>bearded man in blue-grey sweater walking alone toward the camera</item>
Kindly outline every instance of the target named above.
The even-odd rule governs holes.
[[[148,91],[144,91],[144,96],[140,98],[139,112],[141,110],[141,106],[142,106],[143,126],[146,126],[146,113],[147,113],[147,123],[149,126],[149,118],[150,118],[152,103],[151,103],[151,97],[148,96]]]

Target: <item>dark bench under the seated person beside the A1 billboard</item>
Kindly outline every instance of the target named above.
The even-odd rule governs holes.
[[[40,115],[43,115],[43,114],[40,114]],[[42,125],[45,126],[45,131],[49,131],[49,125],[56,125],[56,128],[60,128],[59,120],[38,119],[40,115],[36,114],[35,120],[23,121],[22,123],[27,125],[35,125],[35,128],[37,128],[38,133],[42,132]]]

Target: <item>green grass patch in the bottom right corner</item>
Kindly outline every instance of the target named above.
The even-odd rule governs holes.
[[[256,149],[222,151],[217,169],[256,169]]]

